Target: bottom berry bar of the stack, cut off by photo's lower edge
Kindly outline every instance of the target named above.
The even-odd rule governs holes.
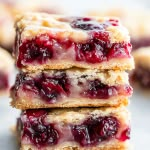
[[[128,150],[125,108],[37,109],[17,122],[21,150]]]

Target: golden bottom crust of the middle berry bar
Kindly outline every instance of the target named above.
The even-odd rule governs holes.
[[[78,100],[71,100],[69,99],[67,102],[57,102],[56,104],[44,104],[37,101],[33,103],[32,101],[27,101],[24,99],[17,100],[13,99],[11,101],[11,106],[17,109],[37,109],[37,108],[69,108],[69,107],[101,107],[101,106],[120,106],[124,105],[127,106],[129,103],[128,98],[126,97],[117,97],[113,98],[113,100],[87,100],[87,99],[78,99]]]

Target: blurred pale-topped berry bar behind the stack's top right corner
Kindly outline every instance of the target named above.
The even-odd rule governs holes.
[[[131,15],[132,13],[132,15]],[[124,22],[131,34],[133,50],[150,46],[150,11],[140,10],[130,11]]]

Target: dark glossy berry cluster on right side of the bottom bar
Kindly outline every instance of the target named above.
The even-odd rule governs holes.
[[[115,117],[91,117],[80,125],[73,125],[72,134],[81,146],[91,146],[115,137],[118,129],[119,122]]]

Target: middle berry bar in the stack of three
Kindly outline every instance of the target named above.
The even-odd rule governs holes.
[[[128,104],[132,88],[121,71],[49,70],[20,73],[11,90],[20,109]]]

